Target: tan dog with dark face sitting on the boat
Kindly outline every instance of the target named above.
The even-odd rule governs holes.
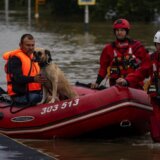
[[[63,71],[52,62],[49,50],[36,49],[34,57],[40,66],[40,74],[47,78],[47,82],[42,85],[43,98],[40,103],[54,103],[77,97]]]

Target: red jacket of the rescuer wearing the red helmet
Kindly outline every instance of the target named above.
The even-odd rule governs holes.
[[[127,52],[129,52],[129,48],[131,48],[132,54],[135,56],[136,61],[138,61],[139,67],[132,71],[127,71],[127,73],[125,73],[126,75],[124,76],[128,81],[129,86],[137,88],[139,82],[143,81],[146,72],[151,66],[149,54],[139,41],[127,39],[124,43],[119,43],[116,41],[112,44],[107,44],[100,56],[100,69],[98,75],[102,78],[105,78],[107,75],[107,68],[111,67],[113,64],[115,50],[121,55],[121,61],[123,61],[123,57],[125,54],[128,54]],[[122,70],[125,70],[124,67]],[[119,75],[118,77],[113,78],[112,76],[109,77],[110,85],[114,85],[115,80],[122,76],[123,75]]]

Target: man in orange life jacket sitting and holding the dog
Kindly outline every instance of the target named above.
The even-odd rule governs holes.
[[[3,54],[7,92],[15,104],[33,105],[42,99],[41,83],[46,78],[39,74],[40,67],[33,61],[34,37],[31,34],[22,35],[19,46],[19,49]]]

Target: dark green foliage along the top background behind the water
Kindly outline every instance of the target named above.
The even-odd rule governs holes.
[[[28,0],[9,0],[10,9],[20,9],[27,6]],[[31,0],[34,8],[35,0]],[[5,0],[0,1],[0,8],[4,9]],[[160,0],[96,0],[95,6],[90,6],[90,18],[94,20],[114,20],[127,18],[132,21],[153,21],[160,15]],[[84,6],[78,5],[78,0],[46,0],[43,12],[50,12],[55,16],[82,17]]]

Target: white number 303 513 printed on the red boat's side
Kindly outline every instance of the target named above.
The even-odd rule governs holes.
[[[62,104],[55,104],[48,107],[44,107],[42,108],[41,115],[44,115],[50,112],[55,112],[57,110],[64,110],[70,107],[76,107],[78,106],[78,104],[79,104],[79,99],[77,98],[68,102],[64,102]]]

